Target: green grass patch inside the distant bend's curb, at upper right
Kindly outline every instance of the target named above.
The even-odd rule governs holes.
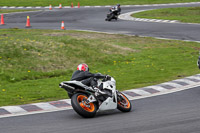
[[[157,9],[132,15],[137,18],[178,20],[186,23],[200,23],[200,7]]]

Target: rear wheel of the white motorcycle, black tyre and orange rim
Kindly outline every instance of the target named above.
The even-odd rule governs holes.
[[[96,115],[97,105],[95,103],[86,103],[88,96],[83,93],[76,93],[71,98],[73,109],[82,117],[92,118]]]

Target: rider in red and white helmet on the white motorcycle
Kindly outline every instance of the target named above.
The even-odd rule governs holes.
[[[108,75],[103,75],[100,73],[90,73],[89,67],[87,64],[79,64],[77,66],[77,71],[72,74],[72,80],[81,81],[82,84],[87,85],[88,87],[92,88],[93,90],[98,90],[97,86],[97,79],[99,78],[107,78],[110,77]]]

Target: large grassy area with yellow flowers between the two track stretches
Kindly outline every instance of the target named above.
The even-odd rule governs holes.
[[[79,63],[113,76],[127,90],[199,72],[199,43],[126,35],[0,30],[0,106],[68,98],[58,87]]]

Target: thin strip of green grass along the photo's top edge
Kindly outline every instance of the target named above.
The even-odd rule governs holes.
[[[74,6],[80,2],[81,6],[85,5],[115,5],[120,3],[122,5],[134,4],[160,4],[160,3],[181,3],[181,2],[199,2],[199,0],[1,0],[0,6],[58,6],[62,3],[64,6],[70,6],[73,2]]]

